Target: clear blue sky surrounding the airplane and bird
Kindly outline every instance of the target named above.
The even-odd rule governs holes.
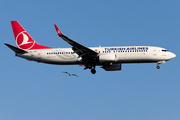
[[[0,4],[0,119],[179,120],[179,0],[5,0]],[[54,29],[87,46],[148,45],[177,57],[162,64],[123,64],[106,72],[55,66],[15,57],[10,21],[39,43],[71,47]],[[80,77],[69,77],[63,71]]]

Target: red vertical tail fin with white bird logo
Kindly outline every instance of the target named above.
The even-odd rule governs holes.
[[[17,21],[11,21],[11,25],[18,48],[25,50],[51,49],[50,47],[37,44]]]

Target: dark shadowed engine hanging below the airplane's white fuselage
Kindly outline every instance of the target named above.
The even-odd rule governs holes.
[[[121,64],[104,65],[102,68],[106,71],[117,71],[121,70]]]

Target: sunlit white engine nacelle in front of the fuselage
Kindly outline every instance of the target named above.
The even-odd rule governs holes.
[[[99,56],[99,62],[115,62],[115,54],[101,54]]]

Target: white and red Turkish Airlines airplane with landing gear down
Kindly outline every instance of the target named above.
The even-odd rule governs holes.
[[[126,63],[157,63],[164,64],[176,55],[165,48],[155,46],[116,46],[116,47],[85,47],[68,38],[54,24],[59,37],[69,43],[71,48],[51,48],[40,45],[28,34],[18,21],[11,21],[16,45],[4,43],[15,52],[15,55],[29,61],[55,65],[81,65],[96,73],[95,67],[101,66],[106,71],[121,70]]]

